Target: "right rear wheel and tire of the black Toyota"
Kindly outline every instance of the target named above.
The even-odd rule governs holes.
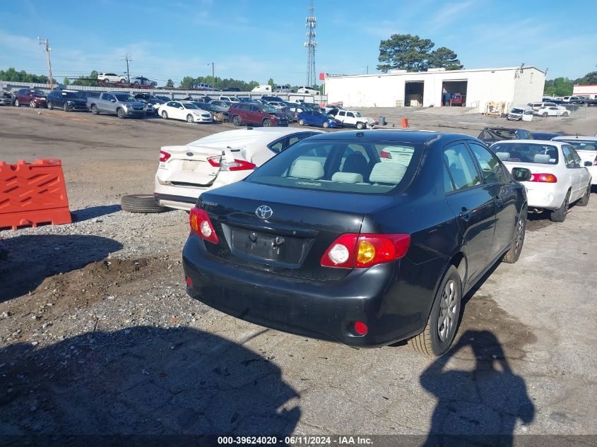
[[[448,297],[448,300],[445,299],[447,297],[446,292],[451,292],[451,297]],[[408,340],[408,344],[413,350],[419,354],[439,357],[449,349],[458,330],[461,298],[460,275],[456,267],[450,266],[435,294],[425,329],[419,335],[415,335],[415,337]],[[448,306],[445,306],[446,301],[449,302]],[[450,309],[450,311],[447,312],[446,309]],[[449,319],[448,327],[444,326],[447,318],[444,318],[444,323],[440,325],[440,316],[445,316],[447,313],[452,317]],[[444,340],[440,338],[440,327],[446,329],[446,333],[442,337]]]

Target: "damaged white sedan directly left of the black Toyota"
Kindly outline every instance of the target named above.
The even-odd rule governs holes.
[[[259,127],[163,146],[153,196],[162,206],[190,210],[203,191],[244,179],[291,144],[316,133],[321,131]]]

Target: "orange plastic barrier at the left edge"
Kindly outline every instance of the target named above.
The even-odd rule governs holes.
[[[60,160],[0,161],[0,228],[71,222]]]

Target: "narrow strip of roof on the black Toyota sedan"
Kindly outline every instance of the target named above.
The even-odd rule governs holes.
[[[329,132],[314,136],[318,140],[360,140],[360,141],[400,141],[401,143],[430,144],[435,141],[449,143],[456,140],[480,141],[478,138],[463,133],[442,133],[430,131],[403,131],[370,129],[364,131]]]

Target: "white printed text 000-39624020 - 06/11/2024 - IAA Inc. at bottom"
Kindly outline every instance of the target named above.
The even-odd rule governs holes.
[[[372,446],[373,441],[366,436],[218,436],[219,445],[276,445],[289,446]]]

